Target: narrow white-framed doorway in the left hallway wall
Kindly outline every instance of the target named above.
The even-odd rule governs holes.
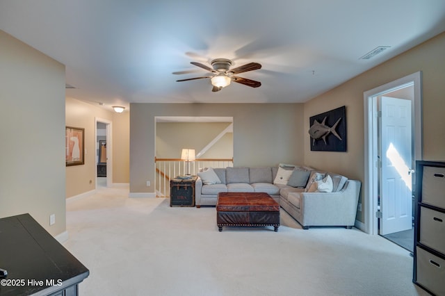
[[[96,117],[96,189],[113,183],[111,121]]]

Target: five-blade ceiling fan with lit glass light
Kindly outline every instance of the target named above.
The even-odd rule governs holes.
[[[232,60],[227,60],[227,58],[216,58],[215,60],[211,61],[211,65],[212,65],[213,69],[209,66],[202,64],[202,63],[191,62],[191,64],[195,65],[197,67],[201,67],[202,69],[206,69],[207,71],[212,72],[213,74],[210,76],[201,76],[201,77],[195,77],[195,78],[189,78],[189,79],[180,79],[177,81],[189,81],[189,80],[195,80],[195,79],[209,78],[211,81],[211,84],[213,85],[213,88],[211,90],[212,92],[219,92],[220,90],[225,88],[227,85],[229,85],[230,82],[232,82],[232,81],[241,83],[244,85],[248,85],[251,88],[258,88],[259,86],[261,86],[261,82],[259,82],[259,81],[254,81],[251,79],[246,79],[246,78],[234,75],[234,74],[239,74],[239,73],[243,73],[243,72],[261,69],[261,65],[259,63],[248,63],[248,64],[242,65],[240,67],[230,69],[230,66],[232,65]]]

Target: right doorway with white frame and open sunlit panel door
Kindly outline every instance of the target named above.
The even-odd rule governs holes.
[[[364,92],[364,114],[364,231],[391,240],[407,231],[405,245],[396,243],[412,251],[412,168],[422,159],[421,72]]]

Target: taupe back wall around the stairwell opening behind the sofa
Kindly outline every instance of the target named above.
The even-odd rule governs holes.
[[[156,116],[234,118],[234,165],[302,163],[301,104],[131,104],[130,192],[154,192]],[[146,181],[152,186],[147,187]]]

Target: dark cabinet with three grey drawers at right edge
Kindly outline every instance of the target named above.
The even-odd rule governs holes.
[[[445,295],[445,163],[416,162],[412,281]]]

